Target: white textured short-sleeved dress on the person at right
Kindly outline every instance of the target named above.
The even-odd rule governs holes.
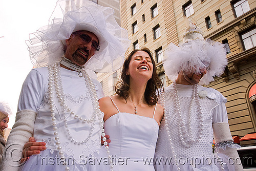
[[[173,84],[167,87],[163,93],[160,94],[159,104],[165,103],[168,119],[169,138],[172,139],[172,145],[168,141],[168,134],[166,131],[165,118],[162,119],[159,129],[159,137],[157,140],[156,153],[155,153],[155,169],[157,171],[168,170],[229,170],[231,166],[221,166],[216,162],[218,157],[222,157],[223,163],[228,159],[227,156],[212,154],[212,141],[214,138],[212,123],[227,122],[227,112],[225,102],[227,101],[224,96],[211,88],[204,88],[199,86],[199,91],[206,91],[211,94],[208,97],[200,98],[201,111],[202,111],[202,126],[200,126],[200,119],[198,117],[199,104],[191,105],[193,94],[193,86],[177,84],[177,91],[179,95],[179,102],[181,108],[181,117],[183,123],[188,127],[188,115],[190,116],[191,124],[191,137],[183,137],[181,127],[179,127],[179,117],[177,117],[175,104],[175,93]],[[164,97],[164,98],[163,98]],[[163,99],[165,102],[163,102]],[[191,112],[189,112],[191,109]],[[199,134],[199,129],[202,127],[202,132]],[[199,141],[197,140],[201,136]],[[188,145],[190,144],[190,145]],[[175,153],[176,156],[172,154]],[[177,164],[178,163],[178,164]],[[179,165],[179,166],[178,166]],[[179,168],[178,168],[179,167]],[[229,168],[228,168],[229,167]],[[232,170],[232,169],[231,169]]]

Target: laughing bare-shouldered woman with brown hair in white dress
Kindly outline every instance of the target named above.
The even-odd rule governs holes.
[[[162,82],[147,48],[124,61],[116,95],[99,100],[105,133],[110,135],[113,170],[154,170],[153,159],[163,108],[157,105]],[[119,162],[122,161],[122,162]]]

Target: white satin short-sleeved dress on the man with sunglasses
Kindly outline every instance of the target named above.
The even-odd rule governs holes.
[[[63,92],[66,104],[82,118],[91,118],[93,114],[92,101],[83,77],[79,77],[76,71],[60,68]],[[100,83],[92,79],[98,95],[98,99],[104,96]],[[58,157],[57,145],[53,131],[49,94],[48,94],[48,69],[46,67],[32,69],[28,74],[19,97],[18,111],[33,110],[37,112],[34,124],[34,138],[36,141],[46,142],[47,149],[30,159],[21,168],[23,170],[65,170],[63,160]],[[83,144],[71,142],[67,134],[67,127],[63,122],[62,106],[54,95],[54,111],[56,126],[59,130],[59,139],[62,151],[65,153],[70,170],[95,170],[94,167],[84,166],[89,157],[97,155],[101,148],[100,123],[98,116],[94,125],[91,138]],[[74,116],[67,115],[68,129],[72,137],[77,141],[86,139],[91,130],[91,123],[84,123]],[[106,154],[105,154],[106,155]],[[109,167],[108,167],[109,169]]]

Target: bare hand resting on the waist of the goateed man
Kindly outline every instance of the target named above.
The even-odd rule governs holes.
[[[21,162],[24,162],[25,160],[29,159],[29,156],[31,155],[37,155],[40,153],[40,151],[44,151],[46,149],[46,143],[45,142],[36,142],[34,137],[29,138],[29,142],[27,142],[24,145],[23,149],[23,157]]]

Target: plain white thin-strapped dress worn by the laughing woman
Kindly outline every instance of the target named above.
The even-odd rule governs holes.
[[[105,121],[105,133],[111,140],[109,150],[114,171],[155,170],[153,159],[158,123],[153,118],[119,112]]]

